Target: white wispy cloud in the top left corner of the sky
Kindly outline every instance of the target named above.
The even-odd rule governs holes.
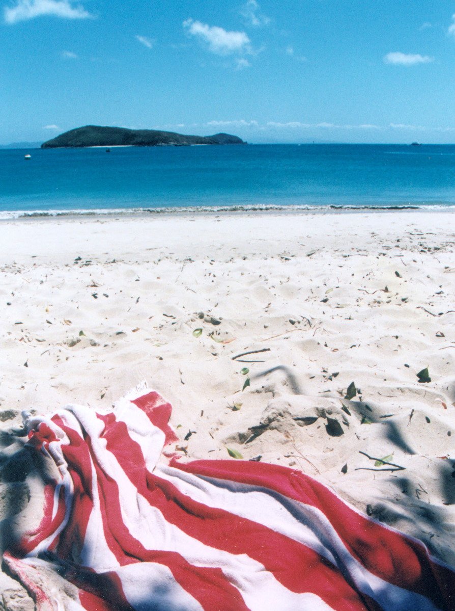
[[[5,23],[18,23],[43,15],[52,15],[63,19],[88,19],[93,15],[84,9],[82,4],[71,0],[16,0],[16,4],[5,7]]]

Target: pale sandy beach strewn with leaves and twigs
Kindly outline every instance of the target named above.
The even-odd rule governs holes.
[[[182,460],[229,448],[301,469],[455,565],[454,219],[1,222],[2,532],[39,507],[21,411],[107,410],[146,381]],[[34,608],[1,579],[9,609]]]

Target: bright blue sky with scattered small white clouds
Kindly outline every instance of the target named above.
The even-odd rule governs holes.
[[[454,0],[0,0],[0,144],[455,142]]]

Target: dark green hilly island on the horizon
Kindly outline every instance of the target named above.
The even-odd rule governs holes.
[[[241,138],[231,134],[214,136],[185,136],[173,131],[129,130],[125,127],[101,127],[85,125],[74,130],[65,131],[47,142],[41,148],[76,148],[76,147],[157,147],[157,146],[190,146],[195,144],[246,144]]]

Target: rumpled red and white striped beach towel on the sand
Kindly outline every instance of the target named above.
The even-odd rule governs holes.
[[[184,463],[170,415],[146,392],[107,414],[27,416],[55,475],[41,524],[4,561],[38,611],[455,608],[455,573],[423,544],[298,470]]]

